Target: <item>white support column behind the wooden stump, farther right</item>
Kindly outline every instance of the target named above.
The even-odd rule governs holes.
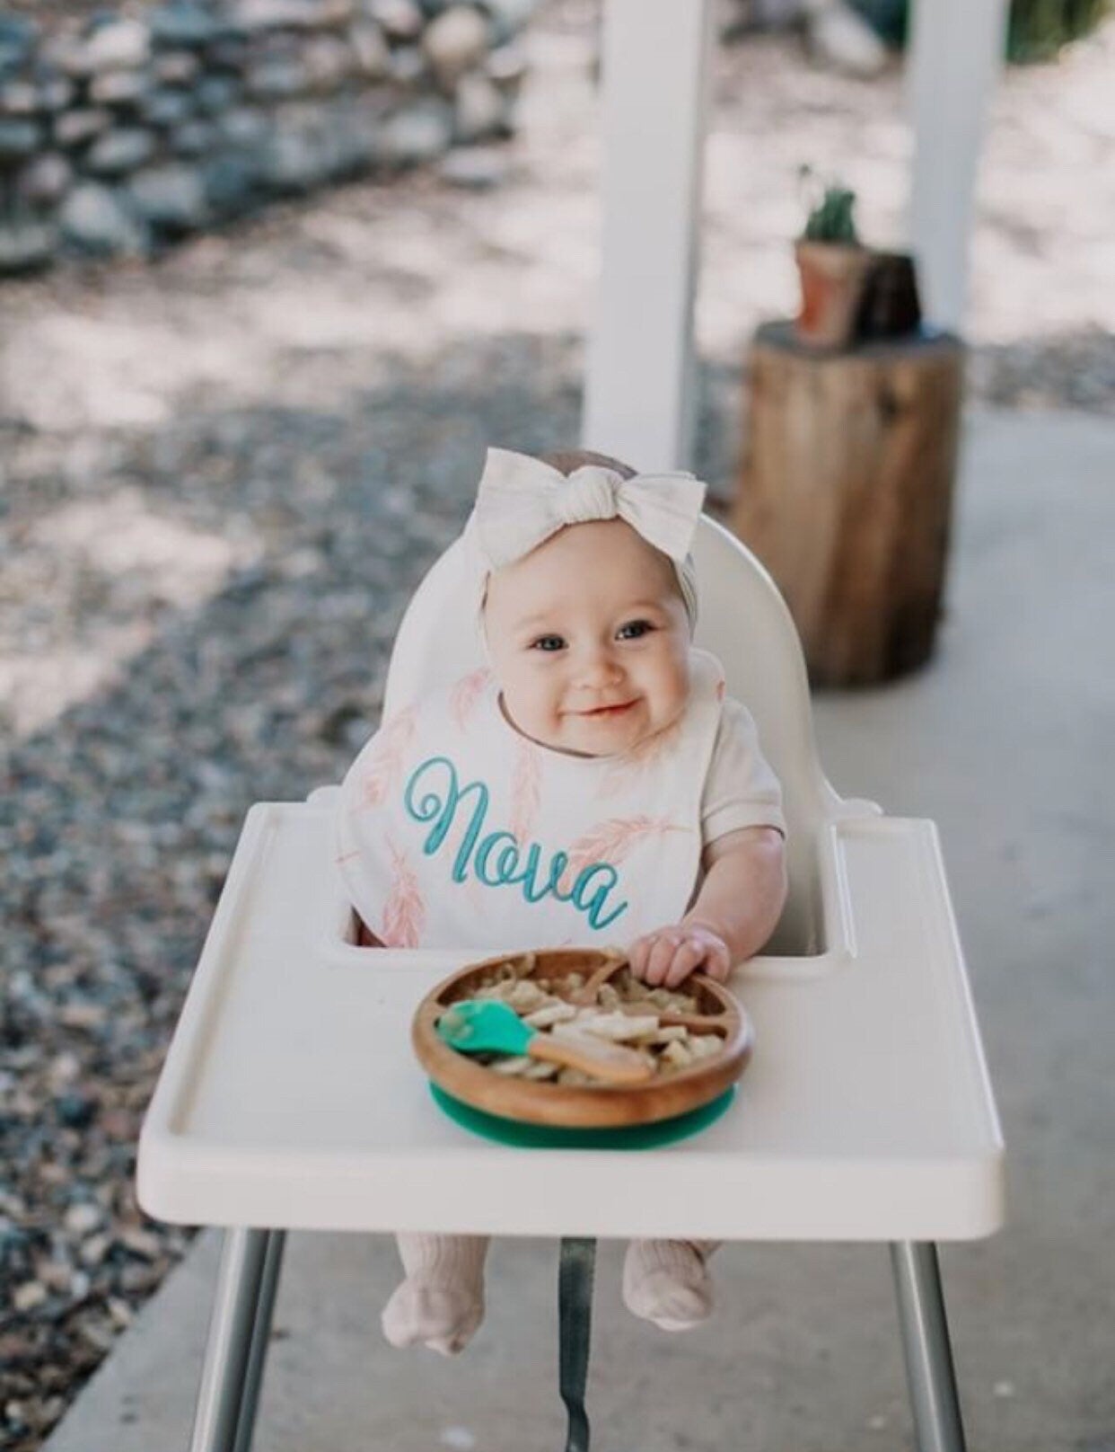
[[[961,330],[987,100],[1003,62],[1008,0],[913,0],[909,235],[928,322]]]

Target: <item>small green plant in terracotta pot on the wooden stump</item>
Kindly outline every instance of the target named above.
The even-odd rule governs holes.
[[[854,337],[871,253],[855,232],[855,193],[837,182],[818,183],[809,167],[800,174],[809,215],[795,244],[802,280],[796,330],[809,347],[840,348]]]

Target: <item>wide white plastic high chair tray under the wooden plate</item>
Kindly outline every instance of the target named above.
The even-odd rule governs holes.
[[[1002,1138],[929,822],[834,822],[848,942],[734,979],[755,1053],[663,1149],[516,1149],[454,1124],[410,1048],[476,951],[345,941],[328,803],[261,803],[139,1141],[161,1218],[320,1230],[950,1240],[1002,1221]],[[281,1207],[281,1210],[278,1210]]]

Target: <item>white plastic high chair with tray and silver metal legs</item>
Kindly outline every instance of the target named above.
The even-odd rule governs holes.
[[[709,520],[695,553],[697,640],[758,722],[790,829],[786,912],[734,980],[757,1031],[735,1104],[657,1150],[470,1135],[409,1024],[474,954],[355,947],[336,788],[257,804],[139,1141],[151,1215],[228,1227],[193,1452],[248,1449],[287,1228],[887,1241],[919,1448],[961,1452],[935,1241],[998,1228],[1003,1146],[937,833],[837,796],[773,582]],[[387,710],[477,658],[467,584],[458,543],[403,620]]]

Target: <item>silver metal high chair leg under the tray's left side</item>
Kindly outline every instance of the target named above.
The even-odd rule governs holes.
[[[278,1239],[270,1253],[268,1270],[273,1236]],[[235,1225],[225,1231],[190,1452],[238,1452],[241,1448],[238,1429],[242,1413],[249,1408],[254,1414],[262,1375],[267,1337],[264,1334],[258,1352],[254,1342],[264,1301],[270,1302],[268,1320],[270,1307],[274,1304],[281,1236],[281,1231],[254,1230],[246,1225]],[[265,1292],[264,1285],[268,1278],[270,1289]],[[258,1366],[249,1391],[254,1361],[258,1361]],[[251,1437],[251,1417],[246,1435]]]

